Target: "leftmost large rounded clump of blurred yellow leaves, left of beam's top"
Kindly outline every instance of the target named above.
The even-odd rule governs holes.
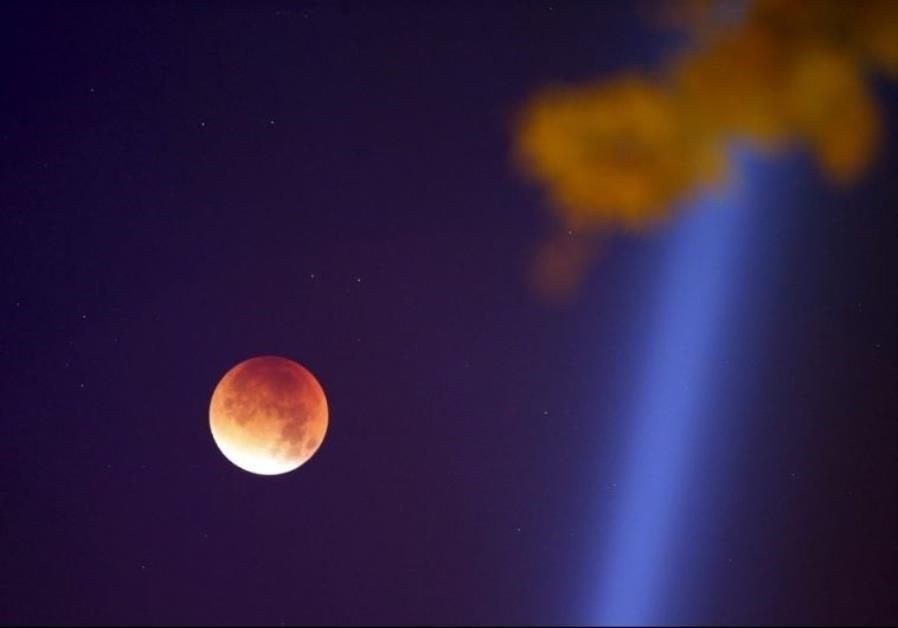
[[[554,89],[522,115],[518,154],[572,227],[641,227],[723,163],[664,88],[637,77]]]

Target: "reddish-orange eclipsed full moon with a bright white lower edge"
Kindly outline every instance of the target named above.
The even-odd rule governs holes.
[[[212,393],[209,427],[225,458],[279,475],[308,462],[327,432],[327,399],[305,367],[277,356],[245,360]]]

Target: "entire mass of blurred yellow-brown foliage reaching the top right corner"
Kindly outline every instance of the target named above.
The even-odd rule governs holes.
[[[733,140],[804,147],[836,183],[862,175],[880,134],[868,72],[898,77],[898,0],[691,0],[667,15],[693,43],[659,78],[544,89],[522,107],[517,163],[564,228],[657,224],[721,179]],[[579,277],[564,270],[589,257],[578,247],[544,247],[539,281]]]

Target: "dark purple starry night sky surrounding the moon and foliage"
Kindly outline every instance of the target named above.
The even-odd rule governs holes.
[[[895,83],[858,185],[749,156],[723,200],[610,238],[571,304],[528,285],[553,217],[515,111],[651,69],[675,38],[642,17],[5,3],[0,620],[598,623],[654,339],[704,324],[659,294],[732,206],[652,619],[898,621]],[[276,477],[209,432],[265,354],[330,406]]]

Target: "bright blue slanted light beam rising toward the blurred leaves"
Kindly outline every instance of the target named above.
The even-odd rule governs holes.
[[[743,186],[740,186],[743,187]],[[742,190],[696,203],[671,232],[647,372],[633,408],[622,502],[612,512],[597,607],[602,625],[664,623],[681,512],[679,487],[698,451],[705,401],[724,335],[728,288],[750,213]],[[691,542],[691,541],[690,541]]]

